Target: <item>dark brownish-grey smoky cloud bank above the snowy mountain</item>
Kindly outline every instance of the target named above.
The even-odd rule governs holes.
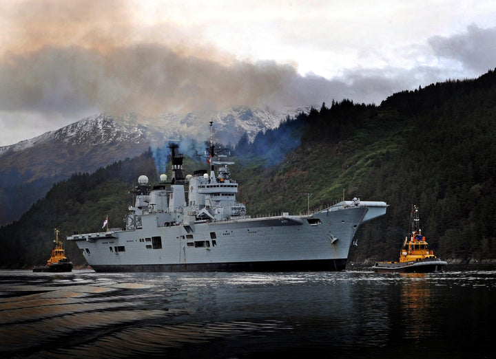
[[[70,114],[101,111],[225,109],[262,105],[298,76],[291,66],[220,65],[180,56],[160,45],[136,45],[105,53],[81,47],[45,47],[0,63],[0,110]],[[302,93],[295,93],[301,100]]]

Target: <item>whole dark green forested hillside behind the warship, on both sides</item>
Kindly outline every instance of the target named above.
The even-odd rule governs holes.
[[[351,261],[397,259],[413,204],[422,232],[448,261],[496,259],[496,73],[394,94],[380,106],[342,100],[243,138],[231,151],[238,200],[249,215],[304,213],[346,199],[381,200],[384,217],[364,224]],[[185,161],[185,173],[198,163]],[[138,175],[156,179],[152,153],[73,175],[19,221],[0,228],[3,268],[30,268],[61,237],[121,227]],[[169,170],[170,171],[170,170]],[[307,194],[311,194],[310,197]],[[115,224],[115,225],[113,225]],[[65,243],[76,264],[83,259]]]

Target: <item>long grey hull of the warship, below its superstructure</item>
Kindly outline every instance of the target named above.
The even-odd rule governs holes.
[[[309,216],[153,226],[68,239],[97,272],[335,271],[344,270],[358,226],[385,212],[384,202],[350,201]]]

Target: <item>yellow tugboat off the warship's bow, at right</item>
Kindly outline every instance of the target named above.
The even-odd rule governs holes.
[[[410,237],[405,237],[400,251],[400,261],[375,262],[375,272],[441,272],[446,263],[427,248],[426,237],[420,230],[419,211],[417,206],[411,210]]]

